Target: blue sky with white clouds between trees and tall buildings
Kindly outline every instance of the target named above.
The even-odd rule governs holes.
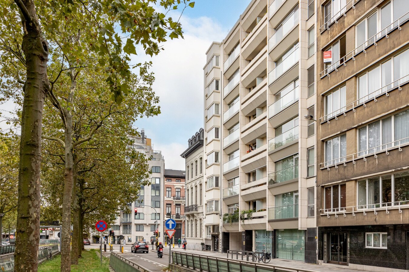
[[[180,22],[184,39],[165,42],[164,51],[152,60],[153,90],[160,97],[162,113],[135,123],[145,129],[155,150],[162,150],[165,167],[184,170],[180,154],[187,140],[203,127],[203,67],[212,41],[221,42],[250,0],[196,0],[185,9]],[[178,14],[171,14],[176,18]],[[138,57],[138,61],[143,61]]]

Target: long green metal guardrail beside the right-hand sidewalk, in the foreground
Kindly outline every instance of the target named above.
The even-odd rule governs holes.
[[[269,265],[175,251],[172,252],[172,257],[173,263],[177,265],[185,265],[187,268],[205,272],[317,272],[302,268],[290,268],[281,265]]]

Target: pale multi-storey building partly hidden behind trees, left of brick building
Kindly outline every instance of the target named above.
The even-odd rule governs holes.
[[[151,139],[146,138],[142,130],[142,136],[134,139],[133,148],[146,157],[152,170],[151,184],[141,186],[139,196],[133,203],[129,203],[130,213],[120,211],[112,229],[115,232],[113,243],[132,244],[135,241],[148,241],[153,238],[153,232],[158,229],[161,232],[160,241],[163,240],[163,195],[164,195],[164,157],[159,150],[153,150]],[[135,213],[135,208],[137,212]],[[162,215],[162,217],[161,217]]]

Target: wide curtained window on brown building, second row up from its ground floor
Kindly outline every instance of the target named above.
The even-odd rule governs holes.
[[[358,129],[358,155],[364,156],[409,142],[409,110]]]

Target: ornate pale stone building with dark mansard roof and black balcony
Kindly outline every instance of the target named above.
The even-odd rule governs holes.
[[[203,152],[203,128],[200,128],[188,140],[188,148],[180,155],[186,163],[186,204],[185,214],[185,234],[189,241],[189,248],[202,250],[201,243],[205,243],[203,237],[203,200],[205,196],[203,172],[204,172],[204,152]],[[207,241],[207,248],[210,243]]]

